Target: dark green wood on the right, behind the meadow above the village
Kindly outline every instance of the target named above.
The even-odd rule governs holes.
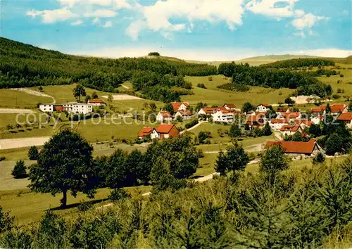
[[[264,67],[251,67],[249,64],[222,63],[219,73],[232,77],[232,83],[279,89],[286,87],[296,89],[296,95],[326,97],[332,94],[332,87],[322,84],[318,79],[301,72],[276,70]]]

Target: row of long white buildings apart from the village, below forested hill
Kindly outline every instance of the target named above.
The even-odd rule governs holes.
[[[106,103],[101,99],[89,99],[88,103],[77,103],[77,102],[68,102],[61,105],[58,104],[41,104],[39,105],[39,110],[44,113],[53,113],[53,112],[65,112],[68,113],[77,113],[77,114],[87,114],[92,113],[94,107],[104,107]]]

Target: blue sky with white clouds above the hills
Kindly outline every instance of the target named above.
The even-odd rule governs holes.
[[[0,0],[1,37],[102,57],[352,55],[352,0]]]

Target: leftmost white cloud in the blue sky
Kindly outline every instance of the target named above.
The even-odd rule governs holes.
[[[45,10],[45,11],[28,11],[27,15],[30,15],[33,18],[37,16],[41,16],[42,23],[56,23],[59,21],[64,21],[64,20],[77,17],[75,13],[72,13],[67,8],[58,8],[56,10]]]

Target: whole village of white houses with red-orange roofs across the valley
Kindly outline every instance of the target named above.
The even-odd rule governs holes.
[[[196,120],[193,125],[197,125],[198,121],[223,125],[238,123],[239,127],[246,130],[263,129],[265,124],[268,123],[278,141],[267,141],[265,148],[280,145],[292,158],[297,158],[298,156],[315,156],[318,152],[325,153],[315,139],[310,138],[308,129],[312,125],[320,125],[320,123],[325,122],[327,113],[334,117],[336,122],[344,123],[348,129],[352,128],[352,113],[348,112],[348,105],[341,103],[334,103],[331,106],[328,103],[327,105],[311,108],[308,111],[294,110],[297,108],[289,106],[277,106],[274,110],[268,103],[253,106],[253,110],[246,112],[242,112],[233,103],[224,103],[218,107],[202,107],[199,110],[194,110],[187,102],[172,102],[168,106],[172,107],[172,110],[162,108],[156,114],[158,126],[143,127],[137,134],[138,139],[151,141],[180,136],[185,131],[177,129],[176,120]],[[39,110],[44,113],[67,112],[87,115],[93,113],[94,108],[103,109],[105,107],[106,103],[96,98],[89,99],[87,103],[41,104]],[[295,134],[303,137],[303,141],[287,141],[290,136]]]

